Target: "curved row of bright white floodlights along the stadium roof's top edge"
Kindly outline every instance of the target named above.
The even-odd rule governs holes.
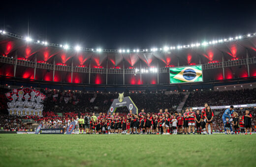
[[[168,52],[169,50],[181,50],[181,49],[189,49],[189,48],[194,48],[194,47],[207,47],[209,45],[215,45],[215,44],[219,44],[219,43],[225,43],[225,42],[232,42],[232,41],[236,41],[236,40],[240,40],[240,39],[246,39],[246,38],[251,38],[251,37],[255,37],[256,33],[248,33],[247,35],[238,35],[235,37],[229,37],[229,38],[224,38],[224,39],[219,39],[219,40],[212,40],[212,41],[203,41],[202,43],[192,43],[191,45],[177,45],[177,46],[164,46],[163,50],[162,48],[151,48],[150,50],[148,49],[101,49],[101,48],[97,48],[96,50],[93,48],[82,48],[80,46],[68,46],[68,45],[62,45],[62,44],[55,44],[55,43],[48,43],[46,41],[40,41],[40,40],[34,40],[31,37],[27,36],[27,37],[23,37],[21,35],[17,35],[11,32],[7,32],[5,30],[0,30],[0,34],[1,35],[8,35],[8,36],[12,36],[18,39],[23,39],[26,40],[27,42],[31,42],[34,44],[40,44],[40,45],[46,45],[46,46],[52,46],[52,47],[59,47],[59,48],[64,48],[65,50],[67,49],[71,49],[71,50],[75,50],[75,51],[88,51],[88,52],[105,52],[105,53],[126,53],[126,54],[135,54],[135,53],[153,53],[153,52]]]

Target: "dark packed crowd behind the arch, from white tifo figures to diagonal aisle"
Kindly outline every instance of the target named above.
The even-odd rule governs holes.
[[[44,111],[107,111],[113,100],[118,98],[117,93],[83,93],[69,91],[45,91],[47,96],[44,104]],[[56,97],[57,96],[57,97]],[[179,103],[183,100],[184,94],[164,94],[164,93],[138,93],[129,94],[132,101],[135,102],[137,108],[145,108],[147,111],[159,111],[160,107],[168,110],[175,110]],[[47,104],[47,105],[46,105]],[[120,108],[119,112],[125,110]]]

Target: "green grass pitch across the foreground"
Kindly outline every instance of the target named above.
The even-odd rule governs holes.
[[[0,134],[0,167],[255,167],[253,135]]]

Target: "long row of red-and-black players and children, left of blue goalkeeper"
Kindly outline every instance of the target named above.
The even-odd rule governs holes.
[[[91,117],[90,125],[84,124],[84,120],[88,118],[80,119],[79,122],[79,133],[83,133],[84,127],[86,127],[86,133],[96,134],[195,134],[194,126],[196,125],[197,134],[206,134],[208,132],[208,124],[211,125],[212,132],[212,119],[213,112],[210,107],[202,110],[196,110],[196,113],[192,111],[192,108],[187,108],[184,114],[175,111],[169,113],[167,109],[158,114],[146,113],[144,109],[139,114],[133,114],[129,111],[127,116],[119,116],[119,113],[109,112],[108,115],[100,113],[96,117],[93,113]],[[84,120],[83,120],[84,119]],[[206,122],[205,122],[206,120]],[[89,122],[88,122],[89,123]],[[90,130],[89,130],[90,129]],[[80,131],[81,130],[81,131]]]

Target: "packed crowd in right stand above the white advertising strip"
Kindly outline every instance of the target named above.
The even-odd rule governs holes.
[[[256,88],[227,91],[191,92],[185,106],[199,107],[204,102],[208,102],[210,106],[254,104],[256,103]]]

